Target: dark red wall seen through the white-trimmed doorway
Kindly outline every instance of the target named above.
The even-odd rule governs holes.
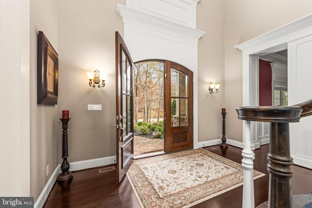
[[[269,61],[259,59],[259,105],[272,105],[272,71]]]

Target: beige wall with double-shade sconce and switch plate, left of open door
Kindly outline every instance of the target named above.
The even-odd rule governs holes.
[[[69,110],[69,162],[116,155],[115,31],[123,36],[116,5],[125,0],[59,1],[59,114]],[[92,88],[86,71],[107,74]],[[101,104],[101,111],[87,111]],[[61,134],[57,135],[61,141]],[[58,163],[61,163],[59,143]]]

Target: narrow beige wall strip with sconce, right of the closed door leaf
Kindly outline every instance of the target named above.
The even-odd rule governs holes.
[[[198,141],[222,137],[224,108],[224,0],[197,4],[197,29],[205,31],[198,41]],[[221,84],[218,94],[209,94],[208,83]]]

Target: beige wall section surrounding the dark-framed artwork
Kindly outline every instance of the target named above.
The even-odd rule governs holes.
[[[59,164],[59,105],[37,104],[38,31],[58,52],[58,5],[56,0],[30,0],[30,195],[35,201]]]

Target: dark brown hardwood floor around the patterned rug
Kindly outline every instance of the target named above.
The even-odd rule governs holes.
[[[229,146],[222,152],[219,146],[210,150],[241,164],[241,149]],[[269,174],[267,153],[269,145],[255,150],[254,170],[266,176],[254,180],[255,206],[268,200]],[[56,183],[45,203],[45,208],[139,208],[132,187],[124,177],[116,184],[116,170],[99,173],[99,168],[73,172],[71,182]],[[292,194],[309,194],[312,191],[312,170],[293,166]],[[194,208],[241,208],[243,187],[240,186],[209,199]]]

